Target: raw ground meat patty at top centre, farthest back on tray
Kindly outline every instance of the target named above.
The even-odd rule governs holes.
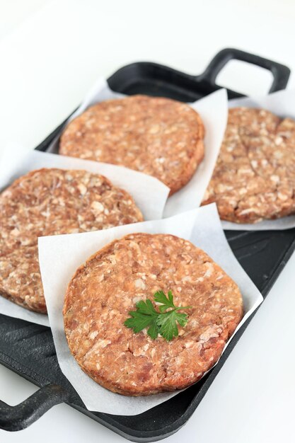
[[[131,96],[98,103],[76,117],[62,134],[59,153],[144,172],[173,194],[202,161],[203,139],[202,120],[189,105]]]

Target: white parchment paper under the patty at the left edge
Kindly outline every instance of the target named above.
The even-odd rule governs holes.
[[[122,166],[40,151],[28,151],[18,144],[10,145],[4,150],[0,164],[0,189],[6,188],[23,174],[39,168],[84,169],[102,174],[114,185],[125,189],[132,195],[145,220],[161,219],[163,216],[169,188],[154,177]],[[45,314],[28,311],[4,297],[0,297],[0,313],[49,326],[48,317]]]

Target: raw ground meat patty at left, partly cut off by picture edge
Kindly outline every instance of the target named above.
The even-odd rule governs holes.
[[[37,237],[141,222],[132,197],[87,171],[40,169],[0,195],[0,294],[46,313]]]

